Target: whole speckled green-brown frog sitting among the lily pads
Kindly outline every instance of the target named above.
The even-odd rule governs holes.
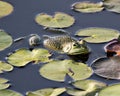
[[[59,36],[47,36],[43,41],[43,45],[51,50],[61,53],[67,53],[69,55],[87,54],[89,49],[86,46],[85,41],[77,41],[68,35]]]

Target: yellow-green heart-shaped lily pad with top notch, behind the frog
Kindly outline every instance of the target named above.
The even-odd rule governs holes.
[[[45,27],[66,28],[73,25],[75,19],[68,14],[56,12],[54,17],[46,13],[38,14],[35,21]]]

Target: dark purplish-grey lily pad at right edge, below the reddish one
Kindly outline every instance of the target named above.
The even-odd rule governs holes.
[[[120,79],[120,57],[102,57],[95,60],[91,67],[94,72],[104,78]]]

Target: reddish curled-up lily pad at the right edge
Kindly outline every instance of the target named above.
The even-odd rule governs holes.
[[[107,53],[116,53],[120,56],[120,41],[119,40],[112,40],[104,47],[105,52]]]

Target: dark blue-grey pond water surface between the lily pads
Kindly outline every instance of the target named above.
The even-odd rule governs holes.
[[[55,33],[47,32],[43,30],[42,26],[35,23],[34,17],[36,14],[45,12],[53,15],[54,12],[65,12],[73,15],[76,19],[76,23],[65,30],[69,31],[71,36],[80,28],[87,27],[106,27],[120,30],[120,15],[108,11],[103,11],[94,14],[82,14],[74,12],[70,9],[70,5],[77,1],[84,0],[4,0],[14,5],[14,12],[2,19],[0,19],[0,28],[6,30],[12,35],[12,37],[18,38],[29,34],[53,35]],[[100,1],[100,0],[91,0]],[[100,56],[105,56],[103,50],[104,44],[88,44],[92,53],[90,54],[86,63],[90,65],[93,60]],[[29,48],[27,40],[13,44],[11,47],[0,52],[0,59],[5,60],[5,57],[9,52],[12,52],[18,48]],[[40,45],[39,47],[43,47]],[[55,54],[54,57],[60,56],[61,58],[69,58],[67,55]],[[64,57],[63,57],[64,56]],[[10,80],[12,86],[9,89],[18,91],[25,95],[27,91],[38,90],[48,87],[67,87],[69,86],[67,81],[65,83],[54,82],[46,80],[39,75],[39,68],[41,65],[28,64],[24,68],[15,68],[10,73],[0,74],[0,77],[4,77]],[[108,80],[93,74],[90,78],[106,82],[108,84],[120,82],[119,80]],[[68,78],[69,80],[69,78]],[[68,96],[66,93],[62,96]]]

